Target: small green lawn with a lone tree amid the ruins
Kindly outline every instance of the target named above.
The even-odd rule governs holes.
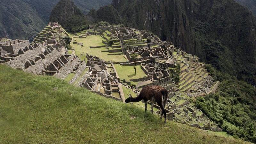
[[[147,76],[144,73],[144,71],[140,68],[140,66],[137,66],[136,74],[133,69],[134,66],[121,66],[120,64],[115,64],[114,66],[121,80],[125,79],[126,81],[130,81],[130,79],[139,79],[144,76]]]

